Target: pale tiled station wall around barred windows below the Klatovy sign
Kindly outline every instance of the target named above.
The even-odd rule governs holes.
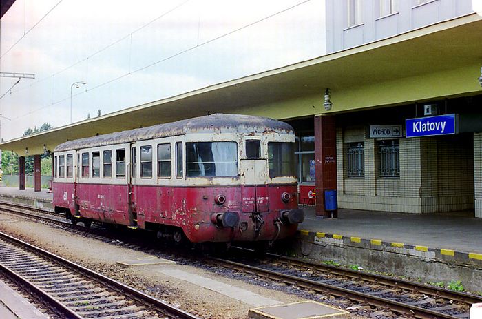
[[[478,138],[482,144],[482,136]],[[346,176],[346,143],[355,141],[365,145],[364,178]],[[376,140],[365,138],[361,127],[338,127],[338,206],[416,214],[474,209],[472,135],[400,138],[399,147],[399,178],[379,178]],[[476,161],[482,163],[482,153]],[[482,172],[478,172],[482,214]]]

